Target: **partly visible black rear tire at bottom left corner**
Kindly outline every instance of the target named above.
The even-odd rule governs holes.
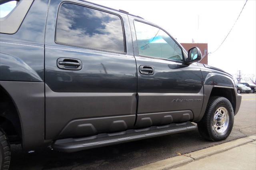
[[[10,144],[0,128],[0,170],[8,170],[11,161]]]

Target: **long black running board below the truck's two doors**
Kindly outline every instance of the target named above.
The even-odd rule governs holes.
[[[129,129],[123,132],[104,133],[84,138],[66,138],[53,142],[52,148],[62,152],[76,152],[112,144],[120,144],[135,140],[164,136],[196,129],[196,125],[186,123],[172,123],[164,126],[154,126],[142,129]]]

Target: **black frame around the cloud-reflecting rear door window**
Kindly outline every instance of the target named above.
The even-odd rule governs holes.
[[[75,4],[75,5],[83,6],[83,7],[85,7],[85,8],[91,8],[91,9],[94,9],[94,10],[99,10],[99,11],[102,11],[102,12],[106,12],[106,13],[109,13],[109,14],[112,14],[112,15],[115,15],[115,16],[118,16],[118,17],[120,18],[121,24],[122,24],[122,31],[123,31],[123,38],[124,38],[124,52],[121,52],[121,51],[112,51],[112,50],[100,49],[100,48],[85,47],[85,46],[76,45],[76,44],[71,44],[71,43],[57,42],[57,41],[56,41],[56,32],[57,32],[57,23],[58,23],[60,8],[61,8],[62,5],[65,4],[65,3],[67,3],[67,4]],[[70,47],[78,47],[78,48],[84,48],[84,49],[92,49],[92,50],[96,50],[96,51],[104,51],[104,52],[118,53],[118,54],[127,54],[126,37],[125,37],[124,22],[123,22],[122,16],[120,16],[120,15],[118,15],[118,14],[116,14],[116,13],[113,13],[113,12],[109,12],[109,11],[102,10],[102,9],[99,9],[99,8],[95,8],[95,7],[92,7],[92,6],[88,6],[88,5],[85,5],[85,4],[80,4],[80,3],[76,3],[76,2],[70,2],[70,1],[61,2],[61,3],[59,4],[59,6],[58,6],[58,13],[57,13],[57,16],[56,16],[55,31],[54,31],[54,43],[60,44],[60,45],[68,45],[68,46],[70,46]]]

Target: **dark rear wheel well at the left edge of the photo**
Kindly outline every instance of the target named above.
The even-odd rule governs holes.
[[[10,143],[21,143],[22,130],[18,111],[10,95],[0,86],[0,128]]]

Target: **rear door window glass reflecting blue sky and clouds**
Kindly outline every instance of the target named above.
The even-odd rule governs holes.
[[[119,16],[70,3],[60,7],[55,41],[89,49],[125,52]]]

